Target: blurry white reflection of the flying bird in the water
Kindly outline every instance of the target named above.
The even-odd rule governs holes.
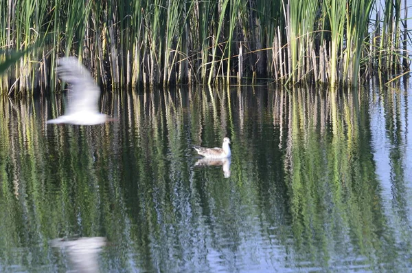
[[[97,273],[99,270],[98,253],[106,245],[104,237],[81,237],[78,239],[54,239],[53,248],[67,253],[73,266],[70,272]]]

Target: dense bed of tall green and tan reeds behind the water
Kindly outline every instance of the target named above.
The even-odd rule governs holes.
[[[53,89],[65,55],[79,56],[105,87],[358,85],[376,72],[409,72],[406,18],[400,0],[0,0],[0,61],[37,43],[0,87]]]

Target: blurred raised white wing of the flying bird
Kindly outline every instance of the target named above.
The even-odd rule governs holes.
[[[100,88],[77,58],[60,58],[56,71],[62,80],[71,85],[67,115],[79,112],[99,112]]]

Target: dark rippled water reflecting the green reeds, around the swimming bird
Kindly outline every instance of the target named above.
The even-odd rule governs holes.
[[[130,91],[94,127],[1,98],[0,272],[407,272],[409,92]]]

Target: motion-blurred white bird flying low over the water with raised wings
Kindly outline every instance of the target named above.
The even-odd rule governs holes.
[[[71,85],[71,91],[65,115],[47,120],[47,123],[95,125],[113,120],[100,113],[98,107],[100,88],[77,58],[60,58],[56,72],[62,80]]]

